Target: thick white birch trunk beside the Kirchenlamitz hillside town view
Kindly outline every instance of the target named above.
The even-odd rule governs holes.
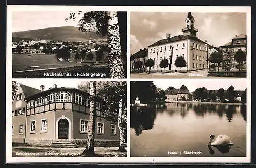
[[[107,15],[110,78],[124,78],[117,12],[107,12]]]

